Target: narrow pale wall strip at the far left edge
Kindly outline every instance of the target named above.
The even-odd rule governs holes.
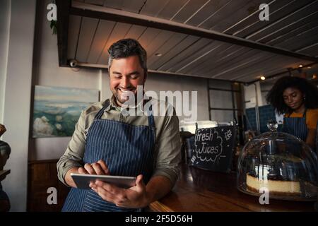
[[[0,0],[0,123],[4,122],[4,87],[8,63],[11,0]]]

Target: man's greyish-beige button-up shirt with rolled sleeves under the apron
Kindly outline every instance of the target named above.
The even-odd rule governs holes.
[[[158,114],[160,107],[165,106],[165,102],[151,99],[149,100],[153,109]],[[97,102],[84,109],[75,127],[75,131],[69,142],[64,155],[57,162],[58,177],[61,182],[66,184],[65,175],[73,167],[83,167],[83,156],[85,153],[86,136],[90,125],[93,123],[95,115],[102,109],[105,102]],[[131,110],[131,109],[130,109]],[[121,107],[114,101],[114,96],[110,100],[110,105],[105,109],[101,119],[123,121],[135,126],[148,126],[148,116],[143,112],[143,105],[140,103],[134,107],[134,115],[123,114]],[[163,114],[164,113],[164,114]],[[153,177],[165,176],[172,184],[175,184],[179,173],[179,163],[181,162],[181,142],[179,136],[179,119],[173,111],[167,107],[163,108],[160,115],[154,115],[155,121],[155,157],[153,162]],[[107,162],[106,162],[107,164]],[[67,184],[66,184],[67,185]]]

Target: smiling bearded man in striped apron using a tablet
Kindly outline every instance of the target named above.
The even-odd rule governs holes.
[[[83,110],[57,163],[59,179],[72,187],[64,211],[141,210],[165,196],[177,180],[181,161],[177,116],[144,114],[148,102],[154,107],[160,103],[146,98],[132,107],[136,114],[123,114],[130,94],[136,97],[138,86],[146,82],[145,49],[126,39],[112,44],[108,52],[112,98]],[[95,182],[90,184],[92,190],[76,189],[72,172],[136,176],[136,186],[121,189]]]

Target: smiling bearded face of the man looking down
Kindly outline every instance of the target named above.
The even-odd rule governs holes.
[[[137,86],[144,85],[146,81],[145,72],[138,56],[114,59],[109,73],[110,90],[116,97],[119,106],[129,100],[129,92],[136,96]]]

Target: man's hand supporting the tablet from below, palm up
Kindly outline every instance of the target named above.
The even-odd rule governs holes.
[[[151,198],[146,192],[143,184],[143,176],[140,174],[136,180],[136,186],[129,189],[122,189],[112,184],[96,181],[91,182],[90,187],[105,201],[125,208],[143,208],[150,204]]]

